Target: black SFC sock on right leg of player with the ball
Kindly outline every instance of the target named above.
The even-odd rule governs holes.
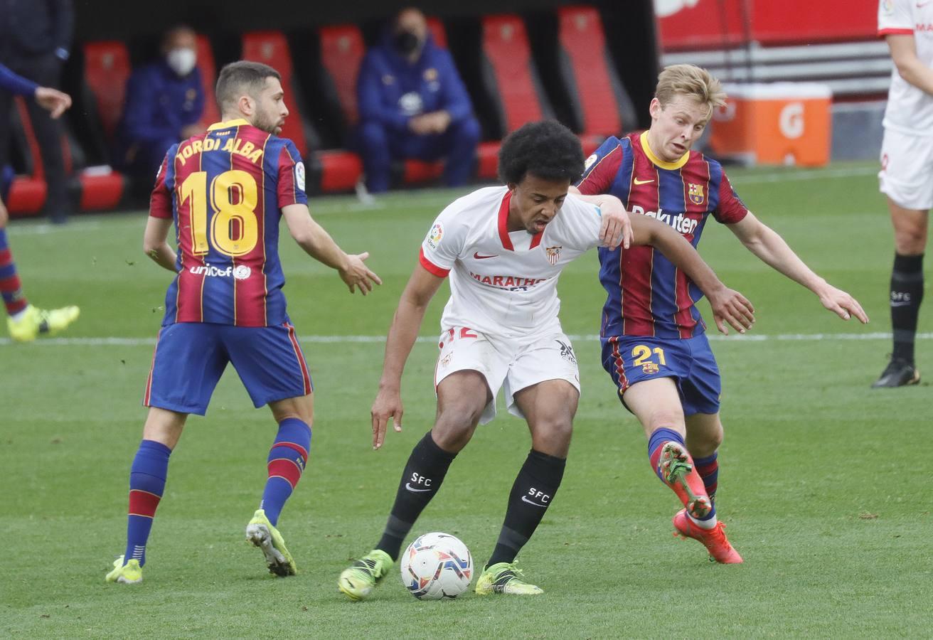
[[[564,458],[555,458],[534,449],[528,452],[522,470],[508,494],[506,522],[502,524],[493,557],[487,566],[515,561],[515,556],[535,533],[557,488],[561,486],[566,462]]]

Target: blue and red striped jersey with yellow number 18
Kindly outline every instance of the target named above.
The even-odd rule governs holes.
[[[169,148],[149,215],[174,218],[178,258],[162,325],[285,321],[282,207],[306,204],[294,143],[237,119]]]

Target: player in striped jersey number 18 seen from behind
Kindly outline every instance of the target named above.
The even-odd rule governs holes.
[[[288,109],[279,74],[260,63],[225,66],[217,80],[223,121],[169,148],[156,177],[144,245],[176,273],[146,382],[149,408],[132,462],[127,548],[108,582],[142,580],[146,541],[165,488],[169,455],[189,413],[203,415],[232,363],[258,408],[269,405],[278,433],[269,479],[246,537],[278,576],[295,563],[275,525],[311,445],[311,377],[287,313],[278,257],[279,221],[310,256],[339,271],[351,293],[382,284],[311,216],[304,164],[282,131]],[[166,242],[174,223],[177,254]]]

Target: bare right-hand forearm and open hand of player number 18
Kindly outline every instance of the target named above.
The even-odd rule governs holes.
[[[295,242],[305,253],[315,260],[336,269],[341,280],[346,283],[350,293],[359,292],[364,296],[372,291],[373,285],[382,285],[383,281],[363,262],[369,252],[347,254],[334,242],[330,234],[313,220],[308,207],[304,204],[288,204],[282,208],[285,224]]]

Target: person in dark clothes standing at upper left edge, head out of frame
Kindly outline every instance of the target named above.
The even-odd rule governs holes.
[[[41,87],[60,85],[62,64],[71,49],[75,9],[71,0],[3,0],[0,3],[0,64]],[[0,198],[6,198],[12,172],[5,170],[9,153],[13,95],[0,93]],[[68,219],[72,205],[62,155],[62,124],[35,101],[27,101],[29,121],[39,146],[48,195],[45,210],[53,223]]]

